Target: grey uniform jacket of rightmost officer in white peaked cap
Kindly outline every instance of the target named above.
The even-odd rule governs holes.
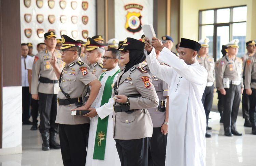
[[[219,89],[224,89],[223,78],[229,78],[229,80],[241,80],[241,88],[244,87],[242,79],[242,60],[236,57],[232,60],[229,56],[221,58],[218,64],[217,81]]]

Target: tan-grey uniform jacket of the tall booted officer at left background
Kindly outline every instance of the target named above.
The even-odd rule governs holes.
[[[65,62],[61,61],[61,54],[55,50],[55,56],[57,58],[57,66],[60,70],[63,69]],[[31,94],[45,93],[45,94],[57,94],[59,91],[58,83],[42,83],[39,82],[39,76],[45,77],[51,80],[58,80],[53,67],[50,64],[50,58],[52,58],[51,52],[47,49],[39,52],[34,59],[32,69],[32,82],[31,82]]]

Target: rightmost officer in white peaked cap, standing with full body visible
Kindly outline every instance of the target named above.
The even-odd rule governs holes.
[[[236,121],[240,105],[241,91],[243,91],[242,60],[236,57],[238,53],[238,39],[227,44],[228,55],[221,59],[218,66],[219,91],[223,94],[224,111],[223,125],[226,136],[242,135],[237,132]]]

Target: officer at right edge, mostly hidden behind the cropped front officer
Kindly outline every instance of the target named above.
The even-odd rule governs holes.
[[[252,57],[255,53],[255,41],[252,40],[252,41],[246,42],[246,49],[247,49],[247,53],[242,56],[242,60],[243,60],[243,81],[244,81],[244,78],[245,78],[245,66],[246,66],[245,63],[246,63],[247,59]],[[245,81],[244,81],[244,83],[245,83]],[[249,120],[249,108],[250,108],[249,97],[246,94],[245,89],[244,89],[243,97],[242,97],[242,112],[243,112],[243,118],[245,119],[244,120],[244,126],[245,127],[252,127],[252,124]]]

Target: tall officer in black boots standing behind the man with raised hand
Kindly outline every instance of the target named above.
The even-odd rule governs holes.
[[[34,58],[31,94],[34,100],[39,100],[39,131],[43,139],[42,150],[49,150],[50,147],[54,149],[60,148],[60,145],[55,141],[58,132],[58,124],[55,123],[55,118],[59,86],[53,67],[50,65],[50,58],[52,58],[52,54],[55,54],[59,69],[63,68],[63,62],[61,61],[60,52],[55,49],[57,44],[55,32],[45,33],[44,39],[46,49],[38,53]]]

